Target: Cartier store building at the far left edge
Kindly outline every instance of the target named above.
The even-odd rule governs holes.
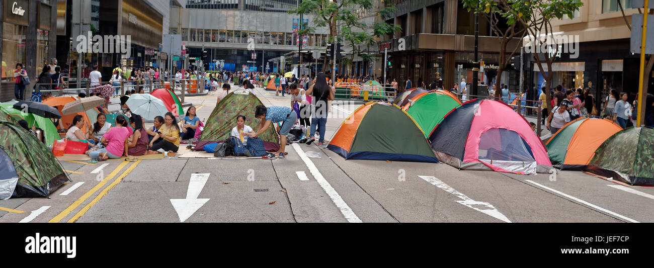
[[[58,1],[2,0],[0,9],[0,100],[4,101],[14,98],[16,63],[22,63],[35,80],[49,59],[55,58]],[[26,98],[33,86],[34,82],[26,88]]]

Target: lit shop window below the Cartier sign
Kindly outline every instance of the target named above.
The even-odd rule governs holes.
[[[14,79],[14,69],[16,63],[25,62],[27,27],[3,23],[2,35],[2,80],[9,81]]]

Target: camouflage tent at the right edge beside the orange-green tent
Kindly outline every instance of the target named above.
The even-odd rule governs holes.
[[[600,145],[588,171],[631,185],[654,186],[654,129],[630,127]]]

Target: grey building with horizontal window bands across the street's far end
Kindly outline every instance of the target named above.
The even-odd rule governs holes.
[[[206,51],[205,69],[220,69],[216,63],[224,63],[222,69],[228,71],[288,72],[299,57],[291,61],[284,54],[297,51],[300,42],[303,51],[324,50],[329,33],[318,27],[300,39],[294,33],[300,16],[288,14],[297,5],[296,0],[189,0],[186,8],[171,5],[169,33],[182,35],[194,68]],[[313,24],[313,16],[304,14],[303,22]]]

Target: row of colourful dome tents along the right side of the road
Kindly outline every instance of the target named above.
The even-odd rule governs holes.
[[[414,89],[394,103],[366,103],[327,148],[345,159],[443,161],[458,169],[525,175],[558,167],[654,184],[654,165],[645,164],[654,160],[652,129],[621,130],[609,120],[580,118],[545,145],[513,107],[490,99],[461,103],[443,90]]]

